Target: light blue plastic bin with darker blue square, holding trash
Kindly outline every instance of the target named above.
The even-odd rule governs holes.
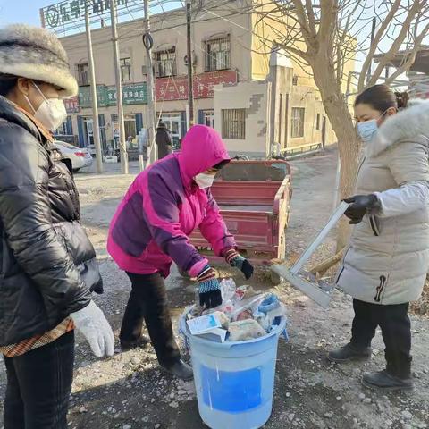
[[[271,416],[277,345],[286,317],[264,337],[218,343],[191,335],[188,340],[199,415],[212,429],[257,429]]]

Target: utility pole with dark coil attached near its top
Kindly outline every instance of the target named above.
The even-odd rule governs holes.
[[[157,159],[155,144],[155,122],[156,122],[156,104],[155,104],[155,80],[154,66],[152,63],[152,47],[154,40],[150,35],[149,2],[144,0],[145,9],[145,34],[143,35],[143,45],[146,48],[146,72],[147,72],[147,131],[149,153],[147,155],[147,165],[154,163]],[[141,165],[140,161],[140,165]]]

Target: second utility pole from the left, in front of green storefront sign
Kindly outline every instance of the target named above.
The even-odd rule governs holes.
[[[114,44],[114,74],[116,78],[116,103],[118,104],[119,149],[121,152],[121,171],[128,174],[128,153],[125,145],[125,127],[123,123],[122,77],[119,65],[118,31],[116,29],[116,3],[110,0],[110,17],[112,25],[112,42]]]

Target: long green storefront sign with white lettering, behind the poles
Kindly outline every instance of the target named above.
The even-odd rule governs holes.
[[[97,85],[97,101],[99,107],[116,105],[116,87]],[[147,84],[133,83],[122,86],[123,105],[147,105]],[[79,88],[79,106],[91,107],[92,97],[90,87]]]

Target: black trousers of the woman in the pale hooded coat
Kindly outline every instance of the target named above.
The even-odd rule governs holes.
[[[386,370],[400,378],[411,375],[411,323],[409,303],[380,306],[353,300],[355,318],[351,329],[351,343],[356,348],[371,346],[377,326],[380,326],[385,345]]]

